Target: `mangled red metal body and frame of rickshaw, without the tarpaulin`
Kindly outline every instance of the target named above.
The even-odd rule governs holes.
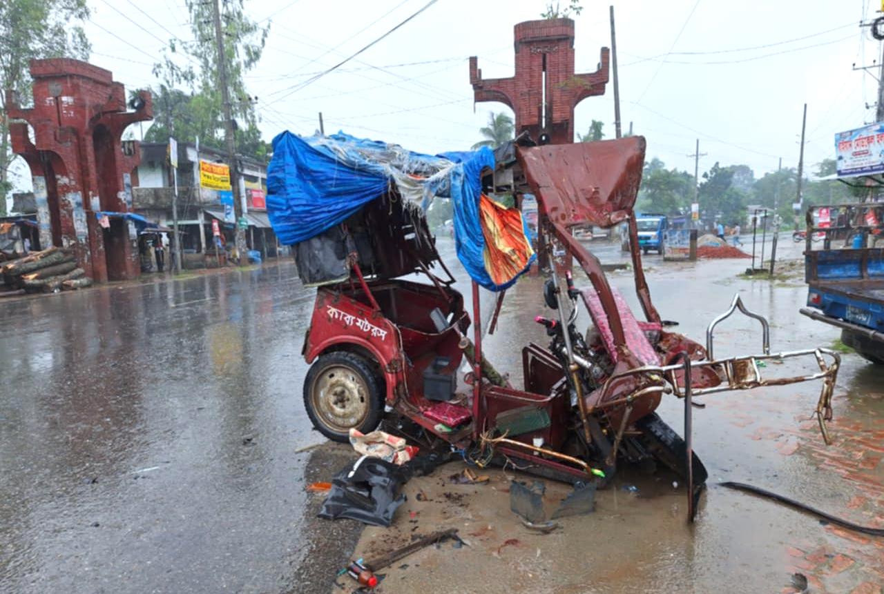
[[[522,348],[522,389],[514,387],[484,357],[479,284],[472,282],[474,319],[470,320],[461,293],[452,288],[454,279],[438,256],[423,214],[402,206],[401,197],[391,186],[343,225],[346,234],[356,237],[362,233],[363,244],[370,235],[371,253],[354,248],[347,255],[344,280],[317,289],[303,350],[312,364],[305,380],[307,406],[316,408],[316,402],[324,398],[321,404],[331,410],[329,418],[345,418],[347,415],[338,415],[335,407],[346,412],[349,403],[365,402],[362,395],[370,392],[376,397],[372,402],[383,403],[385,410],[418,425],[419,430],[407,436],[422,445],[437,447],[442,440],[469,462],[482,465],[492,459],[515,459],[522,469],[563,480],[609,479],[618,458],[629,462],[656,459],[685,477],[691,518],[706,478],[690,443],[692,395],[823,380],[816,412],[828,441],[825,421],[831,418],[837,354],[816,349],[772,355],[766,320],[746,310],[738,296],[730,311],[707,329],[705,346],[667,331],[674,323],[661,320],[652,305],[633,212],[644,147],[641,137],[510,147],[511,156],[498,162],[497,170],[482,173],[483,192],[510,193],[516,205],[523,195],[537,199],[537,252],[541,266],[552,264],[537,312],[525,320],[542,312],[543,301],[557,310],[559,319],[536,319],[545,324],[552,340],[547,348],[535,343]],[[636,320],[626,301],[607,282],[598,259],[571,235],[576,225],[609,228],[620,222],[629,224],[633,273],[644,320]],[[359,243],[357,237],[355,244]],[[568,275],[567,291],[560,287],[558,266],[551,258],[556,244],[563,248],[568,268],[573,257],[591,286],[577,288]],[[431,272],[435,267],[446,272],[447,280]],[[403,280],[411,273],[423,273],[429,283]],[[498,293],[491,327],[496,324],[504,294]],[[579,302],[593,322],[585,336],[574,328]],[[713,328],[737,308],[762,322],[764,354],[715,360]],[[824,355],[832,359],[831,364],[823,361]],[[786,379],[761,377],[759,361],[789,357],[813,357],[820,372]],[[463,380],[471,389],[455,390],[464,364],[470,371]],[[319,368],[316,373],[315,368]],[[350,380],[356,376],[362,379],[342,381],[341,373]],[[317,378],[328,389],[315,389]],[[446,379],[450,380],[447,386]],[[349,391],[341,387],[344,384]],[[441,395],[435,391],[440,385]],[[686,440],[655,413],[664,394],[684,402]],[[308,412],[314,425],[331,439],[347,440],[347,427],[323,428],[321,415],[315,410]],[[380,412],[376,407],[368,417],[358,417],[359,427],[374,429],[381,420]],[[405,433],[404,425],[397,422],[392,429]],[[349,425],[349,429],[355,428]]]

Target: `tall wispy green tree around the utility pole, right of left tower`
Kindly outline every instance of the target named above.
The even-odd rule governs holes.
[[[150,137],[164,141],[171,135],[193,142],[199,136],[200,142],[207,146],[224,147],[224,106],[217,85],[214,3],[187,0],[186,4],[194,41],[171,40],[163,60],[154,65],[154,74],[162,82],[155,90],[156,132]],[[237,152],[266,158],[267,144],[261,139],[255,100],[248,94],[244,75],[261,59],[270,25],[261,26],[249,19],[243,0],[228,0],[223,6],[224,56]],[[187,60],[187,65],[181,65],[180,56]],[[179,86],[187,88],[189,93],[179,90]]]

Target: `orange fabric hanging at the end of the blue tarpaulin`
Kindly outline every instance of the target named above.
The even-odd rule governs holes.
[[[501,207],[484,194],[479,199],[482,234],[485,238],[485,270],[495,284],[511,281],[528,265],[534,250],[525,237],[522,212]]]

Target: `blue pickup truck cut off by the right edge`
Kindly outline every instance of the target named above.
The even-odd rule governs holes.
[[[807,212],[801,312],[841,328],[842,342],[884,365],[884,202],[811,207]],[[821,249],[811,243],[825,234]],[[880,239],[879,239],[880,238]]]

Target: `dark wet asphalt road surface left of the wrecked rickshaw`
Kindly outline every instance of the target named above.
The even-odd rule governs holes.
[[[297,591],[305,462],[343,463],[294,453],[313,297],[284,263],[0,305],[0,590]]]

